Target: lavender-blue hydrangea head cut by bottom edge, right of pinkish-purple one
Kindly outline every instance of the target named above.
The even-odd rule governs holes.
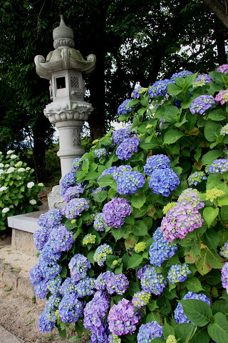
[[[150,322],[142,324],[138,330],[137,342],[138,343],[150,343],[157,337],[162,337],[163,327],[157,322]]]

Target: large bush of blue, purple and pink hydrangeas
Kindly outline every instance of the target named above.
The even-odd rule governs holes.
[[[65,207],[34,234],[41,331],[56,325],[64,338],[74,323],[69,342],[83,332],[90,343],[228,342],[227,67],[139,86],[118,108],[126,129],[63,177]]]

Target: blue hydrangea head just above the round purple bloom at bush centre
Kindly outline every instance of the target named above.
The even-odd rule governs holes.
[[[144,184],[145,179],[140,172],[125,172],[117,179],[117,192],[125,195],[134,194]]]

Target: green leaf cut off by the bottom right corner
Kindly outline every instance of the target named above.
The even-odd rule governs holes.
[[[209,324],[207,331],[217,343],[227,342],[228,322],[224,314],[221,312],[214,314],[214,322]]]

